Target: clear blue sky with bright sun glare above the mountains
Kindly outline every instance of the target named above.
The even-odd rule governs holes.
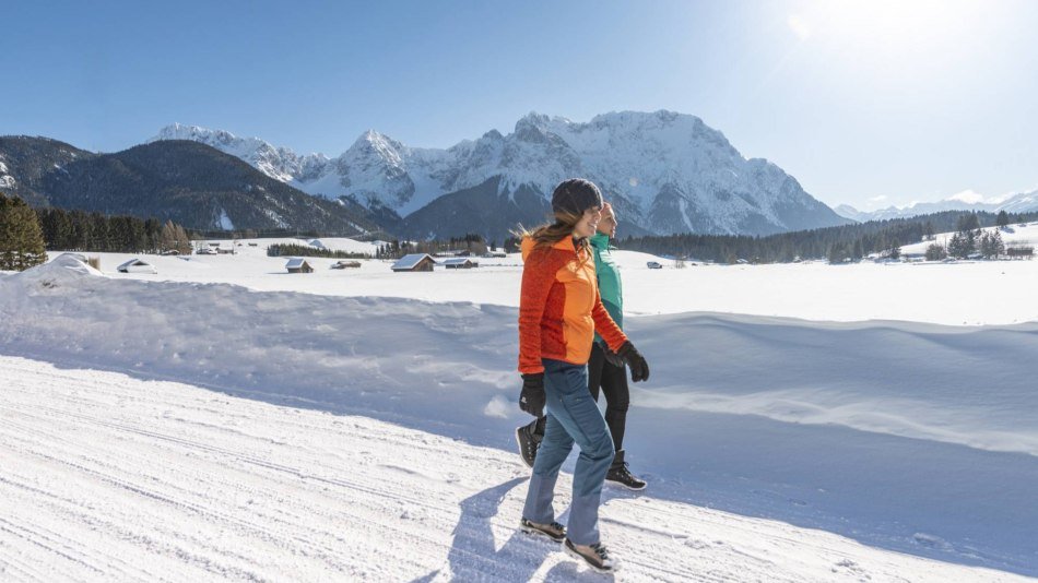
[[[11,2],[0,134],[114,152],[178,121],[342,153],[530,111],[692,114],[830,205],[1038,188],[1027,0]]]

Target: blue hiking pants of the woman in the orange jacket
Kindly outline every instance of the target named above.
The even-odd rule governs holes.
[[[549,524],[555,520],[552,499],[558,469],[573,450],[580,448],[573,477],[573,505],[566,536],[577,545],[593,545],[599,539],[599,503],[602,484],[613,463],[613,438],[602,413],[588,391],[587,365],[570,365],[543,359],[544,392],[547,397],[547,425],[538,449],[527,490],[522,515],[529,521]]]

